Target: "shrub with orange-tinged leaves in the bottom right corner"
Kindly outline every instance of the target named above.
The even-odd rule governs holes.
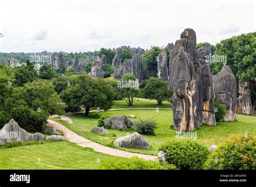
[[[215,149],[204,164],[205,169],[256,169],[255,136],[233,135]]]

